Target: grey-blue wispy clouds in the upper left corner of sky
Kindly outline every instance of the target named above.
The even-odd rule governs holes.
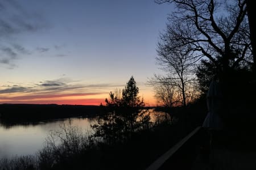
[[[20,54],[31,54],[24,46],[18,44],[13,37],[23,32],[36,32],[46,28],[47,22],[34,11],[26,11],[19,1],[5,0],[0,2],[0,63],[13,69],[14,59]],[[9,42],[11,41],[11,42]]]

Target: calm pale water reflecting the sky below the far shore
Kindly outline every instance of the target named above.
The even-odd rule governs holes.
[[[151,121],[155,122],[160,112],[151,112]],[[0,122],[0,159],[10,158],[15,155],[35,154],[43,148],[44,141],[49,131],[60,131],[61,126],[77,126],[83,130],[92,130],[90,125],[96,124],[94,118],[66,118],[51,120],[51,122],[36,122],[30,125],[6,126]]]

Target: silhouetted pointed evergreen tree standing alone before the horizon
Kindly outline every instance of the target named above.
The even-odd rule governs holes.
[[[123,142],[135,131],[148,128],[150,117],[141,111],[143,99],[138,96],[139,88],[131,76],[125,88],[110,92],[110,99],[106,99],[108,112],[98,118],[95,137],[101,137],[108,143]],[[138,121],[139,120],[139,121]]]

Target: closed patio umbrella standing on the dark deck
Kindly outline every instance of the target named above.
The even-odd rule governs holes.
[[[220,85],[213,80],[207,93],[208,114],[203,123],[204,128],[209,130],[223,129],[223,122],[219,116],[222,112],[222,98]]]

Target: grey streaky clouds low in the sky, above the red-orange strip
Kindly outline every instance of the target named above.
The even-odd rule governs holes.
[[[60,78],[56,80],[45,80],[39,83],[20,84],[8,82],[13,85],[0,87],[0,94],[22,93],[24,96],[45,97],[45,96],[71,96],[71,95],[98,95],[108,93],[106,89],[118,88],[123,84],[100,83],[100,84],[83,84],[77,80]],[[2,89],[1,89],[2,88]],[[33,94],[33,95],[31,95]],[[18,99],[18,98],[14,98]]]

